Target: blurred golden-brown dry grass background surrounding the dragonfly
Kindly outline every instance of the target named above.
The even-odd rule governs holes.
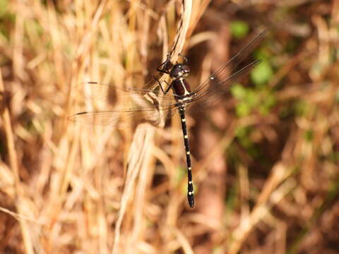
[[[339,1],[182,4],[0,1],[0,253],[339,253]],[[234,20],[270,28],[272,73],[242,80],[248,114],[235,94],[188,118],[190,210],[178,116],[67,117],[93,108],[85,81],[143,87],[176,41],[194,87],[248,40]]]

